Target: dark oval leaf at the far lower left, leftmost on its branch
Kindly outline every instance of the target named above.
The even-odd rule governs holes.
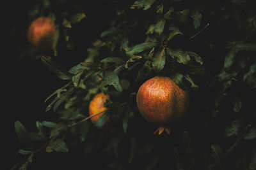
[[[29,132],[24,127],[24,125],[22,125],[20,123],[20,121],[17,120],[14,123],[14,127],[15,127],[15,132],[17,134],[17,138],[19,139],[20,143],[22,143],[22,145],[26,146],[26,148],[32,149],[33,148],[33,143],[30,140]]]

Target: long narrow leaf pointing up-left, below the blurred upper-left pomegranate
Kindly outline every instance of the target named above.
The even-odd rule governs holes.
[[[72,74],[60,65],[52,62],[52,60],[47,59],[46,57],[41,58],[43,64],[48,67],[53,73],[55,73],[62,80],[71,80]]]

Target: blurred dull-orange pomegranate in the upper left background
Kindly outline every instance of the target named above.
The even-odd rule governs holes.
[[[50,50],[55,34],[54,22],[49,17],[39,17],[34,20],[28,29],[28,41],[37,50]]]

